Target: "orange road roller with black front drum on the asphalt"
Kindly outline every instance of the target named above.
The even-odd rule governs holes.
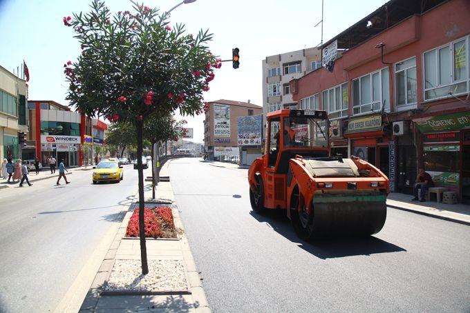
[[[355,156],[331,157],[328,114],[267,114],[265,154],[248,171],[255,212],[283,209],[301,239],[375,234],[386,219],[388,178]]]

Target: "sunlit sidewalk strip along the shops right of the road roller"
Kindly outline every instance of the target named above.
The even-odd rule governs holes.
[[[464,225],[470,225],[470,205],[461,203],[446,204],[435,201],[411,201],[413,196],[391,192],[388,194],[387,206],[390,208],[423,214]]]

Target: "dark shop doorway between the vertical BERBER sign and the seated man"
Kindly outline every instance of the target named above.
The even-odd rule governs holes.
[[[413,194],[416,181],[416,150],[414,145],[397,146],[397,192]]]

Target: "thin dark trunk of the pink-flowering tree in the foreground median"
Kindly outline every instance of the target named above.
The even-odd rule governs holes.
[[[137,129],[137,168],[139,176],[139,237],[140,237],[140,259],[142,261],[142,274],[149,273],[147,264],[147,246],[145,244],[145,223],[144,223],[144,170],[142,168],[142,132],[144,123],[135,123]]]

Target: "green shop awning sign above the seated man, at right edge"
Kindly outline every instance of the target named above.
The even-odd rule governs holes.
[[[422,133],[470,128],[470,111],[413,119]]]

